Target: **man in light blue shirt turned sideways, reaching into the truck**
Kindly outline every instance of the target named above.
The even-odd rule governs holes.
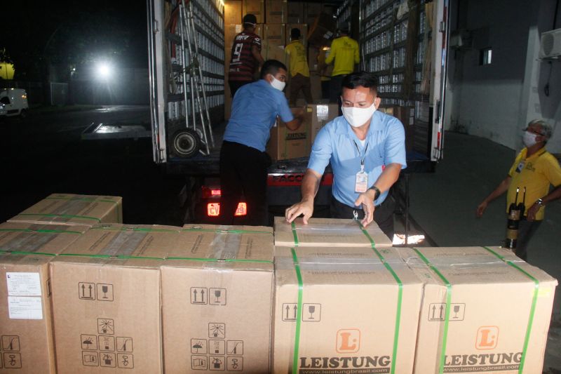
[[[302,123],[302,115],[293,116],[283,93],[287,69],[277,60],[267,60],[261,79],[236,91],[230,120],[220,150],[220,217],[223,225],[234,224],[234,213],[245,198],[250,225],[268,225],[266,206],[266,142],[276,117],[290,130]]]

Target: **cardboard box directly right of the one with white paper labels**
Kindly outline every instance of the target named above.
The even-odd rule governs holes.
[[[51,262],[59,374],[161,373],[157,258],[177,248],[179,234],[180,227],[100,225]]]

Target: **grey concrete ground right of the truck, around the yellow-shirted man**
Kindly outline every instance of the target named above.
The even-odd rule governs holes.
[[[444,159],[435,173],[410,179],[410,214],[437,246],[497,246],[506,234],[506,197],[475,208],[506,177],[515,151],[487,139],[445,134]],[[561,201],[550,203],[529,244],[528,262],[561,279]],[[561,287],[557,287],[544,373],[561,373]]]

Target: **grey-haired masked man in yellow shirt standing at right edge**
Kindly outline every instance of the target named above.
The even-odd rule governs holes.
[[[514,203],[517,187],[520,192],[526,188],[526,210],[518,227],[516,255],[527,259],[527,246],[543,220],[545,206],[550,201],[561,198],[561,168],[557,159],[546,151],[546,142],[551,137],[551,127],[540,119],[528,123],[522,142],[526,148],[516,157],[507,177],[483,200],[477,209],[478,217],[483,215],[487,204],[506,195],[506,210]],[[555,189],[549,192],[549,185]],[[522,195],[518,196],[518,201]]]

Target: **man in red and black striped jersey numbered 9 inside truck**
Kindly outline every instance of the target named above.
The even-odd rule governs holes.
[[[257,18],[253,14],[243,17],[243,32],[236,35],[232,45],[228,84],[232,98],[238,88],[254,81],[255,71],[263,65],[261,38],[255,34]]]

